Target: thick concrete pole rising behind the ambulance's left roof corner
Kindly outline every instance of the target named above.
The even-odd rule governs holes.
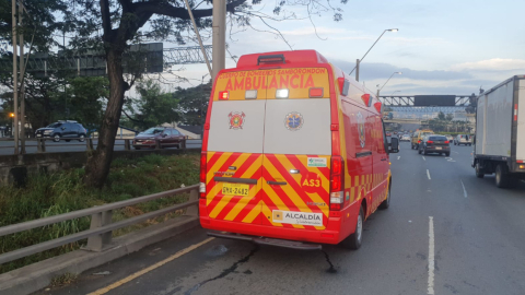
[[[213,0],[211,81],[226,66],[226,1]]]

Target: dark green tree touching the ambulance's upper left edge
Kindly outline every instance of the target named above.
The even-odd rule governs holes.
[[[211,95],[211,81],[195,87],[177,87],[173,96],[179,101],[180,122],[189,126],[201,126],[208,111]]]

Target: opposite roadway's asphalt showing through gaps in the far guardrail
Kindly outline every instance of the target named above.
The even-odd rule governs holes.
[[[93,146],[96,149],[96,144],[98,140],[93,140]],[[200,140],[188,140],[186,143],[186,148],[194,149],[200,148],[201,141]],[[85,151],[85,142],[79,142],[78,140],[72,140],[70,142],[60,141],[60,142],[52,142],[46,141],[46,152],[48,153],[60,153],[60,152],[84,152]],[[176,148],[166,148],[166,149],[176,149]],[[124,140],[116,140],[115,141],[115,151],[124,151]],[[33,154],[37,152],[36,149],[36,141],[27,141],[26,149],[27,154]],[[12,155],[14,153],[14,142],[0,140],[0,155]]]

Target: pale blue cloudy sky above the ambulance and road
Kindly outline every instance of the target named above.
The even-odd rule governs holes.
[[[381,95],[478,94],[480,87],[489,90],[512,75],[525,74],[523,0],[330,3],[342,9],[342,21],[335,22],[331,12],[324,12],[313,15],[312,21],[267,23],[278,28],[294,50],[315,49],[347,73],[385,30],[398,28],[397,33],[386,32],[360,66],[360,83],[374,92],[394,72],[402,72],[388,81]],[[254,9],[271,15],[273,7],[273,1],[262,0]],[[307,15],[300,7],[284,10],[287,15],[293,12],[299,19]],[[253,20],[253,26],[269,30],[258,20]],[[226,42],[230,52],[237,57],[290,50],[275,35],[254,30],[226,37]],[[211,39],[205,44],[211,45]],[[168,47],[177,45],[165,43],[164,48]],[[235,61],[226,54],[226,68],[234,67]],[[176,68],[183,68],[177,73],[189,79],[189,83],[174,84],[182,87],[200,84],[208,73],[206,64]]]

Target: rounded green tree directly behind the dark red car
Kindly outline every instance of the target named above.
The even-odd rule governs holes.
[[[153,80],[137,84],[138,98],[126,101],[125,114],[133,127],[147,129],[165,122],[178,121],[178,99],[165,93]]]

